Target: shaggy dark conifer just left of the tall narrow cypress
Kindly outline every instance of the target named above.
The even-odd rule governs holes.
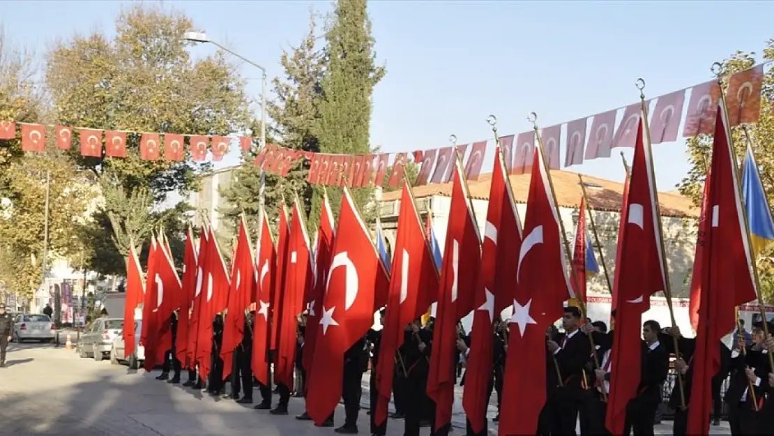
[[[287,149],[319,152],[320,146],[314,134],[321,98],[320,81],[324,64],[320,50],[317,50],[317,19],[310,17],[309,31],[299,46],[290,52],[284,51],[279,63],[283,66],[283,77],[274,79],[276,101],[269,101],[267,112],[274,120],[269,134],[272,142]],[[259,125],[253,129],[258,131]],[[259,191],[261,170],[253,165],[256,147],[245,154],[243,164],[235,170],[235,180],[230,187],[221,191],[228,200],[224,215],[233,228],[238,225],[244,211],[249,228],[259,229]],[[309,165],[305,159],[296,160],[285,177],[265,174],[265,207],[270,217],[279,213],[279,203],[285,198],[292,204],[294,193],[303,201],[307,212],[311,205],[312,188],[307,184]],[[312,225],[310,224],[310,228]],[[314,225],[316,229],[316,225]]]

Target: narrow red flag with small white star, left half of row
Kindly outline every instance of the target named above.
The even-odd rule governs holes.
[[[264,386],[269,386],[269,304],[276,276],[276,251],[272,232],[269,230],[269,218],[261,214],[261,235],[258,248],[258,280],[255,283],[257,311],[252,325],[252,372]]]

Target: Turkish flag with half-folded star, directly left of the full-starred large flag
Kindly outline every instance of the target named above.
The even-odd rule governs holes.
[[[462,406],[474,433],[485,429],[487,395],[491,380],[494,320],[505,307],[513,304],[512,283],[515,262],[522,245],[522,227],[513,202],[511,185],[502,163],[500,149],[495,151],[491,174],[489,204],[481,247],[481,271],[473,307],[471,354],[465,371]],[[502,245],[498,242],[502,242]]]

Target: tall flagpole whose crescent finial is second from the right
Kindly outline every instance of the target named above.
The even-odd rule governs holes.
[[[645,80],[641,78],[637,79],[635,81],[635,87],[639,90],[639,101],[640,105],[642,106],[642,133],[645,135],[645,138],[643,138],[643,141],[648,142],[648,159],[650,160],[651,165],[648,168],[648,177],[652,181],[653,186],[650,187],[650,192],[653,195],[653,201],[655,204],[653,206],[656,208],[656,223],[659,225],[659,245],[661,247],[661,250],[659,252],[659,257],[661,259],[661,266],[663,268],[663,277],[664,277],[664,297],[666,297],[666,307],[669,307],[670,310],[670,321],[672,321],[672,327],[675,328],[677,326],[677,321],[675,320],[675,311],[672,306],[672,285],[670,282],[670,267],[669,264],[666,263],[666,246],[664,245],[664,229],[663,225],[661,224],[661,204],[659,203],[659,190],[656,188],[656,170],[653,168],[653,150],[651,148],[651,142],[650,142],[650,126],[648,125],[648,103],[645,101]],[[677,357],[680,357],[680,348],[678,348],[678,341],[676,336],[672,337],[673,345],[675,348],[675,355]],[[677,384],[680,386],[680,407],[683,408],[683,410],[686,409],[686,403],[685,403],[685,386],[683,385],[683,375],[680,374],[680,372],[677,373]]]

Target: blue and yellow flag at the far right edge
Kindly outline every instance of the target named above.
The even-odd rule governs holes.
[[[774,242],[774,221],[769,201],[763,191],[761,174],[750,147],[745,156],[745,167],[741,173],[741,190],[745,197],[745,213],[750,228],[752,256],[757,258],[767,245]]]

